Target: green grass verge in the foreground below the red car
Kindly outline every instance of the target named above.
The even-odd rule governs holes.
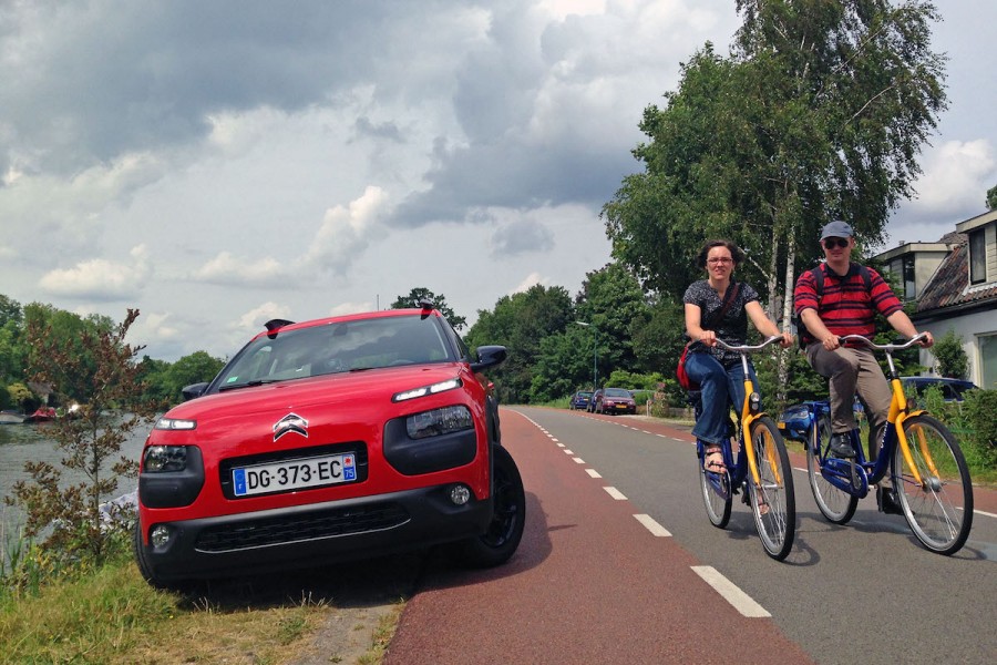
[[[337,610],[309,597],[235,602],[152,589],[127,559],[0,595],[0,663],[236,663],[296,661]],[[265,594],[266,595],[266,594]],[[380,663],[400,604],[363,655]]]

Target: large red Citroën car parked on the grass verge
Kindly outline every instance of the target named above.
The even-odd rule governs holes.
[[[140,571],[175,586],[438,543],[504,563],[525,497],[481,372],[505,356],[429,305],[268,323],[150,433]]]

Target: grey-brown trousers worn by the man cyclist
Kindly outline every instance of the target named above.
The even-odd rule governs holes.
[[[893,390],[873,352],[847,347],[829,351],[824,345],[814,342],[806,346],[806,360],[814,371],[830,379],[831,431],[835,434],[857,427],[853,410],[857,392],[868,418],[868,459],[875,460]]]

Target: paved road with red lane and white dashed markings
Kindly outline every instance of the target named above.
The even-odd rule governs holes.
[[[977,492],[989,512],[962,552],[943,557],[870,500],[849,525],[826,523],[798,473],[798,544],[780,564],[744,507],[727,530],[708,523],[688,432],[553,409],[502,418],[526,485],[523,543],[491,571],[431,562],[388,665],[989,663],[997,654],[993,493]],[[855,571],[865,574],[849,576]]]

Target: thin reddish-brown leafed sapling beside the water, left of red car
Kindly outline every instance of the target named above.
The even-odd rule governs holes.
[[[13,499],[4,499],[23,507],[25,535],[47,533],[44,548],[66,562],[86,560],[100,564],[112,540],[124,534],[120,521],[112,520],[109,526],[101,504],[114,495],[119,478],[136,474],[134,460],[114,458],[127,433],[152,416],[145,405],[135,400],[141,386],[134,357],[142,347],[124,342],[137,316],[137,310],[130,309],[120,325],[84,327],[79,339],[58,334],[56,326],[64,323],[64,317],[29,320],[28,341],[39,351],[32,355],[29,367],[35,380],[60,390],[60,381],[65,377],[86,376],[91,381],[90,400],[79,417],[63,418],[49,430],[65,453],[62,468],[49,462],[25,462],[30,480],[14,483]],[[85,352],[81,355],[80,350]],[[83,480],[64,481],[66,470]]]

